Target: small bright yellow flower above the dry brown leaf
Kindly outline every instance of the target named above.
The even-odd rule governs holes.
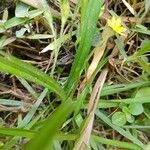
[[[125,35],[124,32],[126,28],[121,25],[121,19],[119,17],[113,16],[111,19],[107,21],[109,27],[111,27],[116,33],[121,35]]]

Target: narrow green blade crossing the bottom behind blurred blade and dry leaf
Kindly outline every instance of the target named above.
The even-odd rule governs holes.
[[[24,129],[16,129],[16,128],[0,128],[0,134],[2,135],[8,135],[8,136],[22,136],[26,138],[33,138],[35,135],[37,135],[37,131],[31,131],[31,130],[24,130]],[[64,134],[64,133],[58,133],[56,135],[56,139],[63,141],[63,140],[76,140],[78,138],[78,135],[76,134]],[[141,150],[139,146],[133,143],[129,142],[122,142],[117,140],[111,140],[107,138],[103,138],[97,135],[92,135],[92,138],[97,143],[102,143],[106,145],[111,145],[115,147],[120,148],[127,148],[127,149],[136,149]]]

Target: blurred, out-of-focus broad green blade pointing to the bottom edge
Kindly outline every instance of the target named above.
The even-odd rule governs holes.
[[[47,119],[39,132],[40,136],[35,136],[31,142],[28,143],[26,150],[46,150],[48,147],[51,149],[53,138],[67,117],[73,112],[74,104],[75,103],[68,100],[62,103],[50,118]]]

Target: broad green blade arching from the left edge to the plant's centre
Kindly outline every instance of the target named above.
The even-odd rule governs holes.
[[[49,90],[57,93],[62,100],[66,99],[66,94],[60,85],[47,74],[44,74],[39,69],[24,63],[23,61],[10,56],[0,56],[0,71],[14,74],[39,85],[47,87]]]

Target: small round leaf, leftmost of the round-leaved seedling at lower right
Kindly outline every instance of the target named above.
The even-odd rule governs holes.
[[[112,123],[117,126],[123,126],[127,122],[125,113],[120,111],[115,112],[111,119],[112,119]]]

